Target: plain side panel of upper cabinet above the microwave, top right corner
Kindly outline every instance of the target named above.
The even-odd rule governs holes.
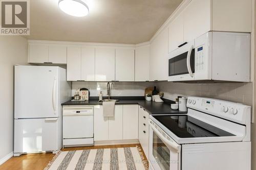
[[[212,30],[250,33],[252,6],[251,0],[212,1]]]

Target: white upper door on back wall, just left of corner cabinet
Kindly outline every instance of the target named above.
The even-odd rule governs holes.
[[[116,49],[116,80],[134,81],[134,49]]]

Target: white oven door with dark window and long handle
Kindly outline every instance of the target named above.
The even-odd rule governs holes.
[[[152,170],[180,170],[181,145],[150,120],[149,162]]]

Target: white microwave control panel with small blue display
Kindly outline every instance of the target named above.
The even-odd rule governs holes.
[[[204,45],[196,47],[196,70],[203,70],[205,67],[205,52],[204,52]]]

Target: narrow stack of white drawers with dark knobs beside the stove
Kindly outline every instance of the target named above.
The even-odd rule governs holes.
[[[150,115],[145,111],[145,109],[139,106],[139,141],[147,159],[149,147],[149,117]]]

